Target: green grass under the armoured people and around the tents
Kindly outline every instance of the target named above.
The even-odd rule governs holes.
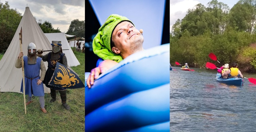
[[[3,54],[0,54],[0,59]],[[80,75],[84,82],[84,53],[75,51],[80,65],[72,69]],[[21,80],[21,79],[20,79]],[[14,80],[19,81],[20,80]],[[63,131],[79,132],[84,130],[84,88],[68,89],[67,103],[71,109],[63,108],[59,92],[56,101],[49,103],[50,94],[45,94],[44,114],[40,110],[40,103],[37,96],[33,96],[33,102],[27,105],[27,114],[24,113],[23,94],[0,92],[0,131]],[[27,96],[26,96],[27,101]]]

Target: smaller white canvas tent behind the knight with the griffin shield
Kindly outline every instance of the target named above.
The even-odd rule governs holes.
[[[44,33],[44,35],[47,37],[49,42],[52,41],[61,41],[62,44],[62,52],[65,53],[68,61],[68,65],[70,67],[80,65],[77,58],[75,57],[75,54],[73,53],[73,50],[69,46],[69,42],[66,39],[65,33]],[[50,49],[44,49],[44,50],[51,50]],[[64,50],[69,49],[69,50]]]

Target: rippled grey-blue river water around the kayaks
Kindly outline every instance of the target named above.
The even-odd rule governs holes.
[[[247,79],[241,87],[218,83],[217,70],[173,68],[170,131],[256,131],[256,85]]]

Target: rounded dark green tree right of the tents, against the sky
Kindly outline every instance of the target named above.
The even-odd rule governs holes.
[[[79,21],[78,19],[73,20],[66,34],[85,38],[85,21]]]

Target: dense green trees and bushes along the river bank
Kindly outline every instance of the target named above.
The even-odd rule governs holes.
[[[221,64],[237,62],[244,72],[256,72],[256,0],[239,0],[231,9],[212,0],[197,4],[178,19],[170,34],[170,62],[205,67],[214,53]],[[221,65],[218,65],[221,66]]]

